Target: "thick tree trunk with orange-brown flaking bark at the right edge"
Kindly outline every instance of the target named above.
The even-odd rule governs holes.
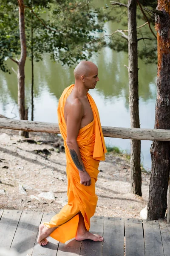
[[[156,15],[158,38],[157,98],[155,129],[170,129],[170,0],[158,0]],[[167,209],[170,175],[170,142],[153,141],[150,154],[152,168],[147,219],[163,218]]]

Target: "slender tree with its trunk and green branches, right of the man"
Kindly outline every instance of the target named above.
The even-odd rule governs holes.
[[[153,3],[154,2],[154,3]],[[150,6],[155,6],[155,1],[149,0],[147,4]],[[147,17],[143,6],[145,1],[139,0],[128,0],[126,3],[119,3],[111,1],[113,6],[119,6],[122,8],[127,8],[128,16],[128,29],[118,29],[111,34],[111,41],[108,45],[117,51],[124,50],[128,51],[128,75],[129,75],[129,108],[130,108],[130,125],[132,128],[140,128],[139,122],[139,92],[138,92],[138,55],[143,58],[143,55],[148,54],[147,62],[153,62],[155,60],[155,54],[150,58],[150,54],[153,49],[145,47],[142,48],[141,52],[138,54],[138,41],[153,41],[156,38],[151,26],[150,18]],[[146,21],[142,26],[137,28],[137,4],[139,6],[138,17]],[[119,12],[118,12],[119,14]],[[150,36],[143,36],[142,32],[139,31],[137,35],[137,29],[142,29],[143,26],[148,25],[150,28]],[[128,35],[126,33],[128,32]],[[115,38],[116,35],[116,38]],[[123,38],[119,40],[119,35]],[[116,39],[116,40],[115,40]],[[144,54],[145,53],[145,54]],[[150,61],[148,61],[150,60]],[[141,142],[140,140],[130,140],[131,151],[130,151],[130,171],[131,171],[131,191],[134,194],[142,196],[142,176],[141,176],[141,163],[140,163],[140,153],[141,153]]]

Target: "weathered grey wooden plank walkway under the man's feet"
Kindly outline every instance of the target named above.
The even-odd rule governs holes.
[[[49,237],[42,247],[36,242],[38,227],[53,215],[0,210],[0,246],[14,248],[19,256],[170,256],[170,225],[162,219],[94,216],[91,232],[103,235],[104,242],[73,239],[62,244]]]

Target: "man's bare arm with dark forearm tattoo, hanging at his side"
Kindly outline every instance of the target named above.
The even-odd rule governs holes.
[[[79,170],[80,183],[85,186],[91,185],[91,177],[85,170],[85,166],[82,162],[79,146],[77,144],[77,136],[83,116],[82,103],[79,99],[75,99],[72,104],[67,105],[67,145],[70,151],[72,160]]]

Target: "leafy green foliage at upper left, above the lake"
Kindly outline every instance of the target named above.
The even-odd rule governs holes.
[[[97,8],[91,2],[88,0],[24,1],[27,56],[31,57],[31,26],[34,31],[35,61],[42,60],[44,53],[50,53],[51,60],[71,66],[82,59],[90,58],[93,52],[98,52],[106,44],[104,41],[96,41],[99,39],[99,33],[103,32],[105,22],[114,20],[114,17],[107,6]],[[30,10],[31,6],[35,15]],[[0,20],[2,21],[0,68],[4,72],[10,72],[5,63],[6,58],[17,58],[20,55],[16,1],[4,1],[0,9]]]

